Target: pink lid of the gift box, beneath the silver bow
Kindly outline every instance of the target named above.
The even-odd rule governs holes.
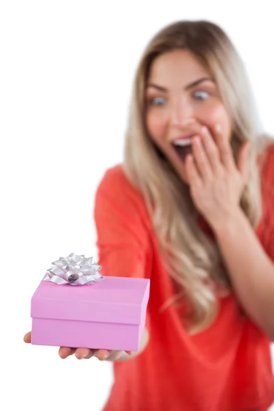
[[[104,277],[84,286],[40,282],[32,297],[31,316],[43,319],[140,324],[149,299],[150,280]]]

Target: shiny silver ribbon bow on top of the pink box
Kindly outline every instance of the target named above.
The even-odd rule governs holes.
[[[71,286],[92,284],[101,281],[103,276],[99,273],[101,266],[93,263],[93,258],[85,258],[71,253],[69,257],[60,257],[51,263],[44,281],[55,284],[71,284]]]

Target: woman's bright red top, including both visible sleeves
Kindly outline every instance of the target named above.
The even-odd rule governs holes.
[[[257,234],[274,261],[274,145],[263,176],[264,216]],[[114,363],[114,385],[104,410],[266,410],[274,400],[270,343],[240,316],[234,294],[221,299],[216,321],[195,336],[186,333],[174,306],[160,312],[173,295],[173,282],[145,202],[121,166],[108,170],[99,185],[95,222],[102,275],[151,279],[149,343],[140,356]]]

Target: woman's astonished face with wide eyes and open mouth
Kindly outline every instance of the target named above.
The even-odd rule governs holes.
[[[230,139],[232,125],[210,73],[190,51],[175,50],[153,61],[146,90],[149,135],[188,183],[184,170],[191,139],[208,127],[212,138],[217,124]]]

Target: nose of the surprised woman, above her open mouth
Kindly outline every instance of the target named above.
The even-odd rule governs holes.
[[[187,99],[179,99],[173,103],[170,121],[173,127],[186,127],[196,123],[195,112]]]

